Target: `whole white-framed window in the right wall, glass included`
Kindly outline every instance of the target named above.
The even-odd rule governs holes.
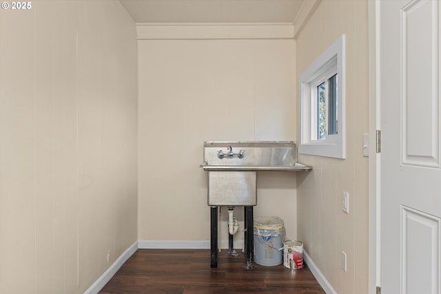
[[[300,74],[300,154],[345,158],[345,35]]]

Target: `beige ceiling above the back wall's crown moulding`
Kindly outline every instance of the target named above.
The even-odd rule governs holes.
[[[120,0],[136,23],[293,23],[308,0]]]

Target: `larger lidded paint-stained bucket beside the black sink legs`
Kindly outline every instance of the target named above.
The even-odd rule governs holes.
[[[285,222],[278,216],[254,218],[254,262],[276,266],[283,261]]]

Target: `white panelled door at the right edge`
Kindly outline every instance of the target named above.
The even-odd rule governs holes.
[[[380,284],[440,294],[440,1],[379,2]]]

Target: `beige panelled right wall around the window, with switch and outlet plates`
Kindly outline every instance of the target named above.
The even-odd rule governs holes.
[[[367,293],[368,160],[362,135],[368,128],[367,1],[323,0],[296,39],[301,74],[338,36],[346,34],[347,158],[299,154],[314,167],[297,179],[298,238],[337,293]],[[349,192],[349,215],[342,192]],[[347,253],[347,272],[340,267]]]

